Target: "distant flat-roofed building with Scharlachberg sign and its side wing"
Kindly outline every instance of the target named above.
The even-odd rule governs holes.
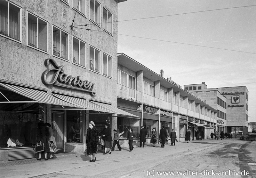
[[[246,86],[207,89],[205,82],[184,85],[194,95],[218,110],[218,131],[248,132],[248,89]]]

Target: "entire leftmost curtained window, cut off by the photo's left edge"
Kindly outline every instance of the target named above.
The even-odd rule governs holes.
[[[0,35],[21,41],[21,8],[0,0]]]

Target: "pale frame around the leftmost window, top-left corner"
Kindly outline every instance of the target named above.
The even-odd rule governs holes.
[[[16,42],[18,42],[18,43],[22,43],[22,8],[20,7],[20,6],[18,6],[18,5],[16,5],[16,4],[14,4],[14,3],[12,3],[12,2],[10,2],[10,1],[5,1],[4,0],[4,2],[7,2],[7,35],[5,35],[5,34],[2,34],[2,33],[0,33],[0,36],[2,36],[2,37],[4,37],[4,38],[7,38],[7,39],[11,39],[11,40],[13,40],[13,41],[16,41]],[[15,38],[12,38],[12,37],[10,37],[10,23],[9,23],[9,17],[10,17],[10,3],[13,5],[13,6],[15,6],[15,7],[17,7],[17,8],[19,8],[20,9],[20,14],[19,14],[19,16],[20,17],[18,17],[19,19],[20,19],[20,34],[19,34],[19,38],[20,38],[20,40],[19,39],[15,39]]]

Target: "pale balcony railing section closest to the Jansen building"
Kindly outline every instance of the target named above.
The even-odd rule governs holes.
[[[135,101],[140,102],[140,98],[141,98],[141,92],[136,90],[136,89],[132,89],[129,87],[126,87],[124,85],[121,84],[117,84],[117,96],[122,97],[122,98],[126,98],[126,99],[132,99]]]

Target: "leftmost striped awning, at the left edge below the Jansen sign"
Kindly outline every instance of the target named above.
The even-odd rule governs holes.
[[[3,93],[4,92],[3,91],[0,93],[0,95],[4,96],[5,99],[4,99],[4,101],[1,101],[0,103],[45,103],[45,104],[53,104],[53,105],[68,106],[68,107],[73,107],[73,108],[80,108],[80,106],[73,105],[68,102],[62,101],[62,100],[55,98],[41,90],[30,89],[30,88],[20,87],[20,86],[6,84],[6,83],[0,83],[0,86],[4,87],[5,89],[8,89],[14,93],[17,93],[21,96],[25,96],[25,98],[24,97],[16,98],[13,96],[13,93],[10,93],[10,92],[7,96],[7,95],[5,95],[5,93]]]

